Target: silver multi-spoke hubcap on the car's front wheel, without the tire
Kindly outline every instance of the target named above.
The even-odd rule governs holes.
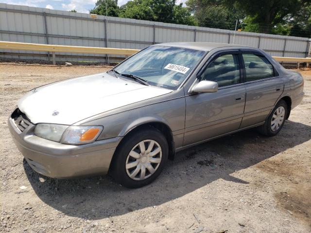
[[[162,149],[155,140],[136,144],[126,158],[127,175],[136,181],[145,180],[155,173],[162,159]]]

